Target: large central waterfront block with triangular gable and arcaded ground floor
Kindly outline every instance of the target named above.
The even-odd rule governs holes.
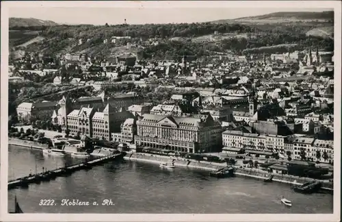
[[[189,153],[219,151],[222,127],[210,114],[191,117],[144,114],[137,121],[135,145]]]

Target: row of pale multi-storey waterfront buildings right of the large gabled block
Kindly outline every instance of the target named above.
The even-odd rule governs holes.
[[[331,163],[334,159],[334,141],[319,140],[304,136],[279,136],[270,134],[251,134],[237,130],[222,133],[222,151],[226,153],[245,153],[271,156],[278,153],[283,158],[311,160]]]

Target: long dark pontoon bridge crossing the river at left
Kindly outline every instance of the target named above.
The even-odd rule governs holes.
[[[15,180],[10,180],[8,182],[8,190],[18,187],[27,188],[29,184],[40,184],[40,182],[53,180],[55,179],[55,177],[67,176],[81,169],[91,169],[96,165],[100,165],[111,160],[123,158],[125,155],[126,153],[117,153],[111,156],[105,156],[102,158],[96,158],[95,160],[89,160],[86,162],[81,162],[79,164],[73,164],[68,167],[60,167],[58,169],[46,171],[44,173],[37,173],[34,175],[28,175],[26,177],[19,177]]]

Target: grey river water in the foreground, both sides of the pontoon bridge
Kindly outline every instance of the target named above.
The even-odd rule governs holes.
[[[40,150],[10,146],[9,180],[30,172],[79,162],[71,157],[46,157]],[[8,190],[8,210],[14,195],[27,213],[332,213],[333,197],[294,193],[289,185],[234,177],[216,179],[208,172],[185,168],[161,169],[157,164],[111,162],[29,188]],[[279,196],[292,201],[288,208]],[[54,199],[55,206],[39,206]],[[62,206],[62,199],[90,201],[90,206]],[[111,199],[112,206],[102,206]],[[98,206],[92,206],[94,201]]]

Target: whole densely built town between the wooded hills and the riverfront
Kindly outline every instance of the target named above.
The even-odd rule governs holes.
[[[205,66],[186,55],[179,63],[35,56],[17,60],[19,69],[11,64],[9,81],[53,76],[53,87],[70,93],[19,103],[20,123],[124,143],[127,149],[333,162],[334,79],[324,75],[333,72],[332,52],[220,56]],[[49,69],[40,69],[42,64]],[[79,89],[93,96],[72,93]]]

